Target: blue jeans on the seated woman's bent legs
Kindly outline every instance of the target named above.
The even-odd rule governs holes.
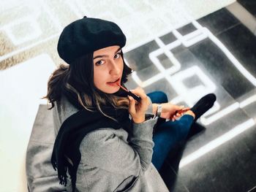
[[[166,103],[168,101],[166,94],[162,91],[154,91],[148,93],[147,96],[150,97],[152,103]],[[158,118],[154,127],[154,152],[152,156],[152,164],[157,170],[161,168],[172,147],[186,139],[193,119],[191,115],[183,115],[176,121],[166,121],[163,118]]]

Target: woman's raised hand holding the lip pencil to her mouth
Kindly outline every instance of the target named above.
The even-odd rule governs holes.
[[[138,87],[134,90],[131,90],[135,95],[140,96],[140,102],[136,101],[132,98],[132,96],[128,96],[129,98],[129,114],[132,116],[132,120],[135,123],[142,123],[145,121],[145,113],[148,110],[148,96],[142,88]]]

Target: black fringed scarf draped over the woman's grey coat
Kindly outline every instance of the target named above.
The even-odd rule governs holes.
[[[67,93],[66,91],[63,93],[67,99],[75,107],[79,107],[78,109],[80,110],[62,123],[53,146],[51,163],[55,170],[58,169],[61,185],[67,185],[67,171],[69,172],[72,181],[72,191],[75,191],[76,174],[81,158],[79,147],[82,139],[90,131],[94,131],[97,128],[129,129],[131,120],[129,119],[128,110],[117,110],[112,106],[103,106],[102,111],[118,120],[118,122],[116,122],[115,120],[105,117],[101,112],[90,112],[82,109],[75,99],[75,95]],[[115,95],[127,96],[127,93],[118,91]]]

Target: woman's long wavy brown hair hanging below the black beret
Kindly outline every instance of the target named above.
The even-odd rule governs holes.
[[[121,57],[124,61],[124,54],[121,52]],[[124,70],[121,77],[121,84],[127,82],[129,74],[132,69],[124,62]],[[97,110],[102,112],[101,105],[111,104],[115,108],[127,109],[129,106],[129,99],[126,97],[116,96],[110,93],[99,91],[94,85],[94,63],[93,53],[83,55],[72,64],[61,64],[48,80],[48,93],[42,99],[48,99],[52,109],[54,102],[61,99],[61,93],[68,91],[75,94],[83,108],[93,111],[93,104],[96,105]],[[104,112],[103,115],[109,117]],[[113,119],[113,118],[112,118]]]

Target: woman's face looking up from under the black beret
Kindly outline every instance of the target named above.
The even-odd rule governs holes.
[[[119,46],[115,45],[94,51],[94,85],[100,91],[116,93],[119,90],[116,82],[121,83],[123,69],[124,61],[121,58]]]

